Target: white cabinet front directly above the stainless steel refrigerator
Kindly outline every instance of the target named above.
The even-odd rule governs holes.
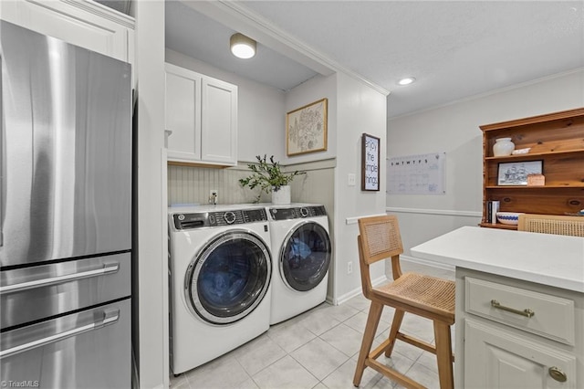
[[[134,63],[134,18],[99,3],[10,0],[0,18],[78,47]]]

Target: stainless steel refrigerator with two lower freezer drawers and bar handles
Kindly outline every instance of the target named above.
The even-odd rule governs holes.
[[[0,22],[2,385],[130,387],[130,65]]]

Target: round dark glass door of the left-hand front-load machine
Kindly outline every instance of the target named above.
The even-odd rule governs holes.
[[[214,238],[187,268],[189,308],[213,324],[245,318],[266,296],[271,260],[264,241],[251,232],[233,230]]]

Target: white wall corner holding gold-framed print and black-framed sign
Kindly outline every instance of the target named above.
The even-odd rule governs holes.
[[[329,225],[333,239],[333,264],[328,282],[328,300],[340,303],[360,293],[359,255],[357,236],[359,228],[354,218],[377,215],[385,212],[385,183],[382,180],[379,192],[360,190],[361,134],[386,137],[386,98],[359,80],[337,74],[327,78],[318,77],[290,90],[286,97],[286,110],[295,110],[312,101],[328,99],[328,149],[288,157],[287,163],[336,157],[334,182],[320,185],[319,190],[327,197],[321,200],[333,205],[327,207]],[[285,144],[284,138],[282,144]],[[385,161],[385,148],[381,148],[381,161]],[[347,175],[356,174],[357,184],[347,185]],[[329,198],[328,198],[329,197]],[[347,224],[347,218],[353,218]],[[352,273],[348,274],[348,263],[352,262]],[[385,279],[382,264],[374,266],[373,279]]]

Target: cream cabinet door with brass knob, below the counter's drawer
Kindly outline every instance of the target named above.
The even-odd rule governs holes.
[[[464,338],[465,388],[579,387],[576,357],[567,352],[473,320],[465,321]],[[550,368],[566,374],[566,382],[552,378]]]

